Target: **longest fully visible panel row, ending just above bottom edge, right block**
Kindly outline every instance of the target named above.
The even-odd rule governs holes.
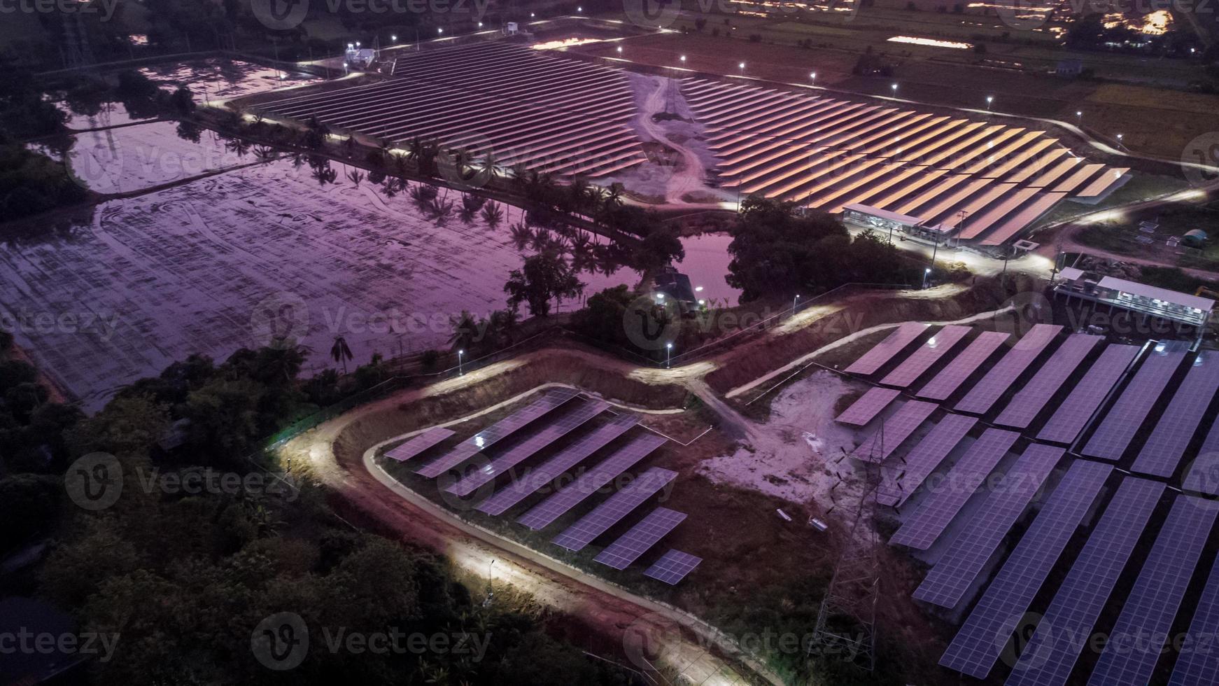
[[[1112,472],[1108,464],[1085,459],[1070,465],[953,636],[941,665],[986,679],[998,659],[1002,638],[1015,629]]]

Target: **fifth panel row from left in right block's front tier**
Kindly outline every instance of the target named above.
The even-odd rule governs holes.
[[[957,607],[1064,452],[1053,446],[1029,446],[1007,478],[991,490],[948,552],[931,568],[914,597],[946,608]]]

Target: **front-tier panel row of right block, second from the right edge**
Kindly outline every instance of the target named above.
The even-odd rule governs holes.
[[[1163,643],[1147,638],[1168,636],[1173,629],[1215,514],[1202,498],[1180,496],[1173,503],[1089,684],[1143,686],[1151,681]]]

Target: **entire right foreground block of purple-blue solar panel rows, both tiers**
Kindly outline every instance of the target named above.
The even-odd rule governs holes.
[[[958,625],[940,665],[1020,686],[1219,682],[1202,647],[1219,632],[1214,351],[907,323],[845,374],[872,386],[836,422],[879,463],[887,542],[929,564],[913,598]]]

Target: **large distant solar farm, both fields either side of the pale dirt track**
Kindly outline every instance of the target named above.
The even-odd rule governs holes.
[[[662,76],[664,93],[650,97],[657,77],[478,43],[402,51],[379,83],[284,95],[256,111],[316,118],[400,149],[435,140],[500,169],[612,180],[656,164],[640,119],[658,121],[652,108],[663,100],[666,112],[688,116],[701,132],[695,141],[663,143],[686,147],[669,152],[701,147],[718,164],[718,190],[705,185],[689,196],[702,200],[690,203],[758,194],[829,213],[862,206],[984,246],[1015,240],[1064,200],[1095,203],[1130,178],[1128,168],[1091,162],[1043,130],[981,115],[677,73]]]

